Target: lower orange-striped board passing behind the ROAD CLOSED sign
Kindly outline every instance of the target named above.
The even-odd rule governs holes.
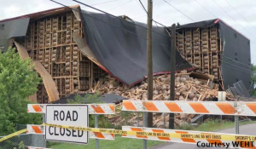
[[[26,134],[38,134],[44,135],[45,127],[43,125],[34,125],[27,124],[26,125]],[[101,139],[101,140],[114,140],[114,134],[106,134],[101,132],[89,132],[90,139]]]

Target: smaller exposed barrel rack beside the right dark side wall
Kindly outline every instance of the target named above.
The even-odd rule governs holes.
[[[177,50],[200,72],[214,75],[221,81],[221,40],[218,26],[177,31]]]

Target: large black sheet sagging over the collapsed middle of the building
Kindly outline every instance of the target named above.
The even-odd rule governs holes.
[[[143,77],[148,74],[147,40],[145,39],[147,25],[119,20],[108,14],[97,14],[84,10],[81,14],[87,44],[96,58],[107,68],[108,73],[129,85],[143,80]],[[170,72],[171,38],[168,37],[168,33],[163,27],[153,26],[153,31],[166,35],[152,32],[154,41],[152,43],[153,73]],[[192,68],[178,52],[176,63],[177,71]]]

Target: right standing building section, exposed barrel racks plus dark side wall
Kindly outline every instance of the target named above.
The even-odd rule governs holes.
[[[223,20],[177,26],[177,50],[198,71],[214,75],[222,89],[241,81],[251,84],[250,40]]]

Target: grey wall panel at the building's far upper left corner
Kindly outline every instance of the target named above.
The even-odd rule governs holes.
[[[29,23],[29,18],[0,21],[0,48],[7,51],[11,37],[24,37]]]

